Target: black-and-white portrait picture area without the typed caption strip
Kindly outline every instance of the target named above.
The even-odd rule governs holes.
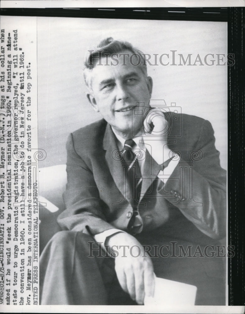
[[[226,32],[37,19],[41,304],[226,304]]]

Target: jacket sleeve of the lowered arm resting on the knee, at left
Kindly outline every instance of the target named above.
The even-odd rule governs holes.
[[[106,221],[104,207],[91,169],[76,153],[73,136],[67,144],[67,185],[64,192],[66,209],[58,216],[58,224],[66,230],[95,235],[115,228]]]

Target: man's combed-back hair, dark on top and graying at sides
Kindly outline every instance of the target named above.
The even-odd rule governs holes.
[[[103,39],[94,49],[88,50],[83,68],[83,76],[88,89],[92,89],[90,74],[95,64],[92,62],[93,58],[100,59],[105,56],[111,56],[112,54],[122,52],[123,50],[130,50],[139,58],[139,66],[147,78],[147,68],[145,62],[145,55],[139,49],[133,47],[131,43],[127,41],[114,40],[112,37]]]

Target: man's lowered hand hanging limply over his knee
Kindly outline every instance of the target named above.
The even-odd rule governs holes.
[[[132,300],[144,304],[145,295],[154,294],[154,270],[150,257],[144,252],[140,242],[125,232],[109,237],[107,244],[118,247],[115,270],[122,289]]]

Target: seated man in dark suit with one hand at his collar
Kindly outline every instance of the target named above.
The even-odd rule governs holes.
[[[155,273],[196,285],[196,304],[224,305],[226,174],[211,124],[150,107],[144,55],[127,42],[90,50],[84,77],[103,119],[67,141],[64,231],[40,259],[42,304],[143,304]]]

